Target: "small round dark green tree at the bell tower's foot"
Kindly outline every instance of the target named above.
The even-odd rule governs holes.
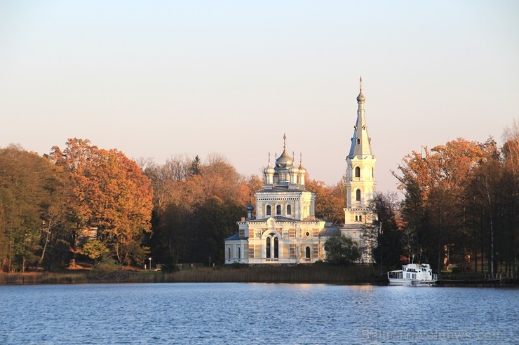
[[[334,265],[350,265],[360,258],[358,243],[337,232],[325,242],[326,260]]]

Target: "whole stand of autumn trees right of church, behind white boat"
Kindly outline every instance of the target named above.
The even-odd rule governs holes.
[[[407,155],[393,175],[405,199],[397,223],[403,254],[438,270],[513,273],[518,255],[519,129],[499,148],[457,139]],[[391,202],[389,202],[391,204]],[[394,258],[394,256],[393,256]]]

